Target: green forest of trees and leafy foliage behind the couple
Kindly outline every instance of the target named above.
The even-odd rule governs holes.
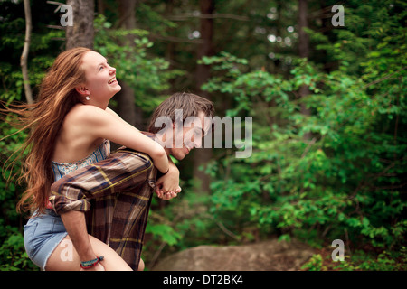
[[[321,252],[344,241],[344,262],[316,254],[304,270],[406,269],[405,1],[69,0],[73,27],[52,1],[26,2],[33,100],[61,51],[88,46],[117,68],[123,89],[111,107],[139,129],[175,91],[211,99],[219,117],[252,117],[250,157],[223,139],[176,163],[183,191],[153,200],[147,270],[187,247],[270,238]],[[0,1],[7,104],[31,101],[25,15],[23,1]],[[3,139],[15,129],[0,130],[0,270],[38,270],[24,252],[27,216],[15,211],[24,184],[6,182],[27,132]]]

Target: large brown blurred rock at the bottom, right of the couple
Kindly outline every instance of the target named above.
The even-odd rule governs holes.
[[[314,250],[298,241],[277,239],[241,246],[199,246],[166,256],[153,271],[290,271]]]

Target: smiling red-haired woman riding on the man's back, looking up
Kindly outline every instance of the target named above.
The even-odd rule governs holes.
[[[31,128],[23,147],[23,151],[29,149],[23,176],[27,190],[18,203],[19,210],[28,207],[34,211],[24,227],[24,245],[33,263],[43,270],[80,270],[80,262],[90,261],[75,251],[77,262],[62,262],[63,247],[59,245],[70,238],[48,199],[52,182],[106,158],[109,141],[150,155],[157,170],[168,172],[162,191],[178,191],[179,180],[174,181],[174,176],[179,172],[169,170],[164,148],[109,109],[110,98],[120,89],[116,69],[102,55],[74,48],[54,61],[36,103],[24,110],[14,109],[23,115],[24,128]],[[130,270],[109,246],[89,238],[92,254],[105,256],[91,270]]]

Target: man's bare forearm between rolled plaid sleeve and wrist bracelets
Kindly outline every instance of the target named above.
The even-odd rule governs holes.
[[[73,247],[75,247],[80,261],[90,261],[97,256],[90,245],[88,230],[86,228],[85,214],[81,211],[70,210],[61,215],[63,224],[71,238]]]

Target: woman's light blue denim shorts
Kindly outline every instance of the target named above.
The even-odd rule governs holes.
[[[33,264],[45,271],[48,258],[68,233],[53,210],[33,216],[24,226],[24,247]]]

